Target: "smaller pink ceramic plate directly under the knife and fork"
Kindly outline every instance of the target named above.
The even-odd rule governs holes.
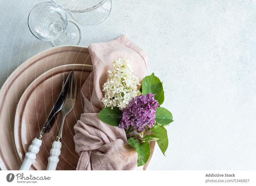
[[[20,159],[24,159],[25,153],[32,140],[40,133],[44,125],[47,114],[51,111],[61,90],[61,78],[63,72],[66,74],[74,71],[77,76],[77,99],[74,109],[67,115],[63,126],[62,147],[60,161],[57,170],[76,170],[79,156],[75,151],[73,140],[74,125],[83,113],[83,99],[81,97],[81,87],[88,75],[92,71],[91,65],[64,65],[55,67],[33,81],[22,97],[20,98],[14,123],[14,139],[16,150]],[[89,91],[89,90],[88,90]],[[57,117],[57,125],[60,124],[61,113]],[[56,139],[57,125],[54,124],[52,130],[45,134],[43,143],[36,160],[31,169],[45,170],[48,164],[48,157],[52,148],[52,142]]]

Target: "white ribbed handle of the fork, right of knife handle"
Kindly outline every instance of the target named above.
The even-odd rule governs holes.
[[[54,141],[52,144],[52,149],[50,151],[51,156],[48,158],[47,170],[56,170],[59,163],[61,142]]]

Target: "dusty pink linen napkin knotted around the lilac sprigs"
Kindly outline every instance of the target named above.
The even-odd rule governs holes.
[[[102,85],[108,79],[112,61],[126,58],[132,61],[134,74],[143,80],[147,55],[126,36],[89,46],[93,71],[82,87],[84,114],[74,126],[76,152],[80,155],[77,170],[133,170],[137,152],[127,144],[124,129],[112,127],[98,118],[103,107]]]

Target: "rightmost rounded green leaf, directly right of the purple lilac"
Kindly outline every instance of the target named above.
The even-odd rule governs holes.
[[[172,113],[163,107],[156,108],[156,122],[160,125],[172,123]]]

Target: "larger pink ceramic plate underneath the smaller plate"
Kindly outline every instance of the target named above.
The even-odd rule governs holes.
[[[20,156],[15,150],[14,117],[21,95],[39,75],[57,66],[92,65],[86,47],[60,46],[45,50],[23,62],[8,77],[0,90],[0,168],[18,170]]]

